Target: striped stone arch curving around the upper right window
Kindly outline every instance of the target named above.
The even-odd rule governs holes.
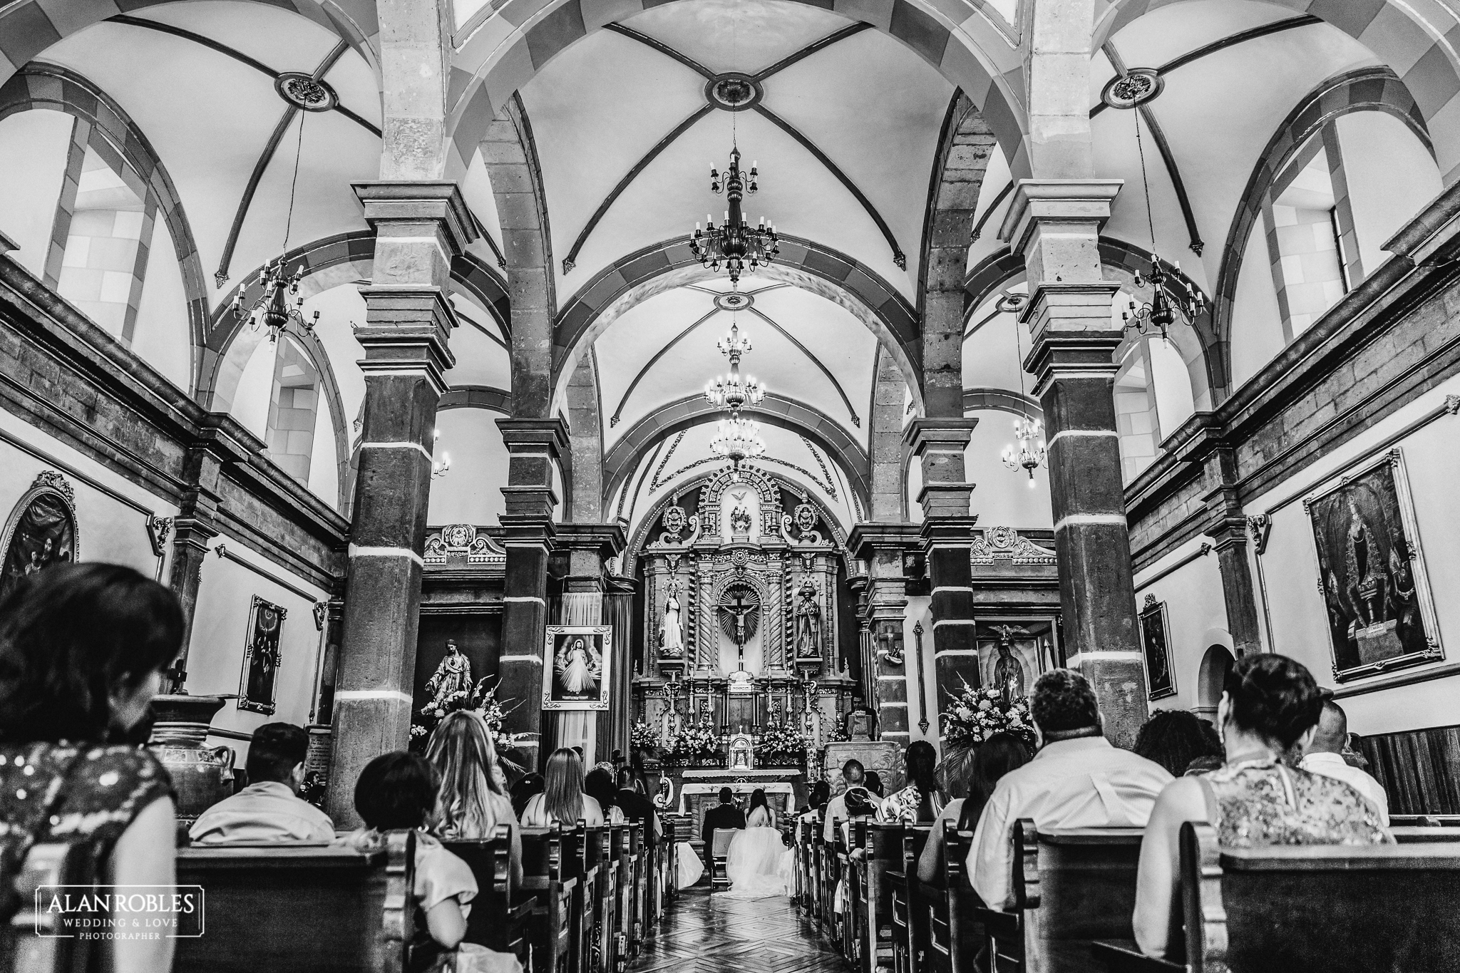
[[[1310,139],[1318,136],[1336,118],[1356,111],[1380,111],[1399,118],[1429,149],[1431,155],[1435,155],[1437,146],[1431,142],[1422,104],[1388,67],[1362,67],[1334,74],[1308,92],[1288,112],[1257,158],[1257,165],[1247,178],[1241,203],[1237,213],[1232,214],[1232,225],[1226,232],[1222,267],[1216,277],[1216,295],[1212,301],[1210,346],[1207,347],[1212,398],[1218,406],[1234,391],[1231,341],[1237,283],[1242,271],[1242,255],[1247,252],[1248,236],[1261,219],[1263,200],[1286,165]],[[1445,182],[1451,182],[1453,174],[1445,172],[1444,162],[1438,158],[1437,162],[1440,162]],[[1456,166],[1460,166],[1460,160],[1456,162]]]

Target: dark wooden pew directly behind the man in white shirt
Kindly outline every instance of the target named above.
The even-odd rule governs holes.
[[[1016,904],[974,913],[987,929],[996,970],[1083,973],[1094,941],[1133,938],[1140,839],[1137,827],[1041,834],[1021,818],[1013,834]]]

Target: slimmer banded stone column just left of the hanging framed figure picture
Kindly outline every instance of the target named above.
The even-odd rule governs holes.
[[[507,511],[499,518],[505,531],[507,575],[498,696],[517,703],[504,729],[540,734],[548,554],[556,535],[552,512],[558,497],[552,492],[552,477],[553,464],[568,448],[568,432],[558,419],[498,419],[496,425],[508,452],[507,486],[502,487]],[[530,766],[540,763],[540,737],[520,748]]]

